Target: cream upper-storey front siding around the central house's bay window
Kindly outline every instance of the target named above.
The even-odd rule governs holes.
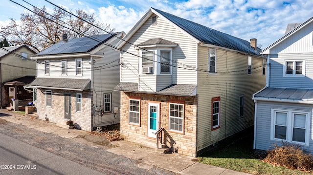
[[[128,41],[137,45],[148,39],[162,38],[178,43],[179,45],[173,48],[173,83],[195,84],[197,73],[190,69],[195,68],[197,65],[195,61],[197,58],[197,43],[160,17],[157,18],[156,25],[152,25],[151,21],[152,17]],[[134,46],[129,43],[126,43],[122,50],[127,50],[127,52],[139,56],[139,51],[135,50]],[[138,67],[140,58],[125,52],[122,52],[121,57],[123,63],[123,66],[121,66],[121,82],[138,82],[138,71],[141,69]],[[191,68],[186,65],[191,66]]]

